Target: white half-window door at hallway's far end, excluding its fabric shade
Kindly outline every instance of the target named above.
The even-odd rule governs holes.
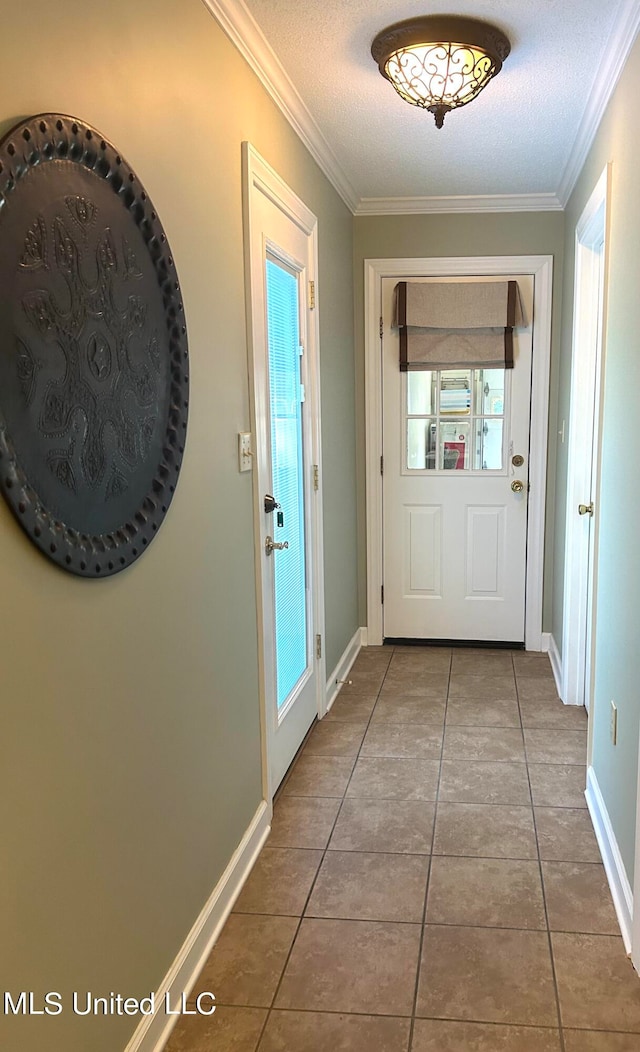
[[[517,280],[513,369],[417,372],[382,281],[385,639],[524,642],[534,281]]]

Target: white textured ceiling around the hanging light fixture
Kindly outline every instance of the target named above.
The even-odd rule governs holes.
[[[640,23],[640,0],[205,2],[357,213],[561,207]],[[512,43],[442,129],[371,56],[420,14],[481,18]]]

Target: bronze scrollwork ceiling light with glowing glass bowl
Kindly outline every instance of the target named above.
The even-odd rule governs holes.
[[[511,48],[487,22],[426,15],[383,29],[372,55],[398,95],[428,109],[441,128],[449,109],[465,106],[500,73]]]

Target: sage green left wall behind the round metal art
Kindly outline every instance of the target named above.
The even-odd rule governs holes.
[[[13,4],[0,100],[0,134],[54,110],[118,146],[184,295],[186,453],[144,557],[73,578],[0,504],[0,989],[140,996],[261,800],[241,141],[319,218],[329,670],[358,625],[352,216],[200,0]],[[0,1043],[115,1052],[136,1023],[0,1015]]]

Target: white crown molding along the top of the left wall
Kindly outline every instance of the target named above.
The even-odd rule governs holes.
[[[358,197],[318,124],[242,0],[202,0],[280,108],[347,208]]]

